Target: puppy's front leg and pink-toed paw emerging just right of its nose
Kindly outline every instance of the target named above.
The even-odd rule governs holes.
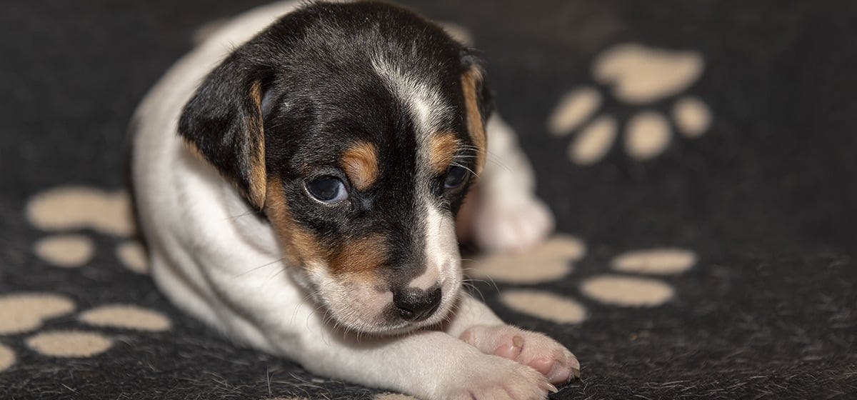
[[[562,344],[546,335],[506,325],[484,303],[463,295],[446,332],[489,355],[532,367],[552,384],[580,376],[580,363]]]

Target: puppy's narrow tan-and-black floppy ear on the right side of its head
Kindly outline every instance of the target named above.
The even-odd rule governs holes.
[[[476,154],[476,175],[482,174],[485,154],[488,152],[488,134],[485,126],[494,112],[494,96],[485,81],[485,73],[475,51],[464,49],[461,57],[464,73],[461,75],[461,91],[467,118],[470,140],[479,149]]]

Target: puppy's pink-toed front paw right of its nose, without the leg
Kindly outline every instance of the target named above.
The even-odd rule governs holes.
[[[542,333],[512,325],[475,325],[460,338],[485,354],[499,355],[531,367],[552,384],[564,384],[580,376],[577,357]]]

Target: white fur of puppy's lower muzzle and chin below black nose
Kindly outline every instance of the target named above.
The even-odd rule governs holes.
[[[401,335],[443,321],[458,302],[461,273],[440,282],[441,299],[428,318],[419,321],[402,319],[393,305],[393,292],[357,280],[334,280],[324,270],[301,270],[295,278],[320,306],[317,312],[334,330],[379,336]]]

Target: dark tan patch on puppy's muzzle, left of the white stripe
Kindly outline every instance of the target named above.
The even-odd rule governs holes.
[[[330,262],[334,274],[372,275],[387,261],[387,237],[369,235],[339,248]]]

